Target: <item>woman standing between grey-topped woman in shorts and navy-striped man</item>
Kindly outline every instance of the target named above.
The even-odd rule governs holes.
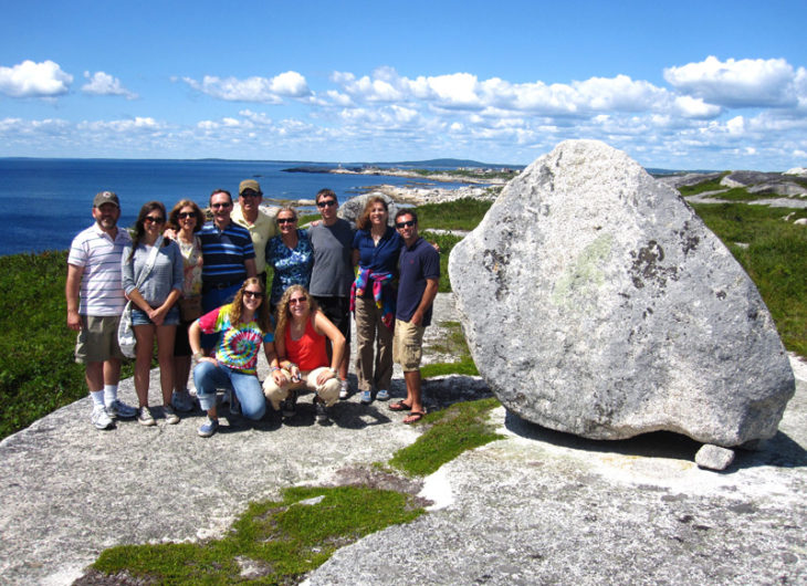
[[[171,405],[177,411],[193,409],[193,400],[188,391],[190,376],[190,342],[188,327],[201,315],[201,241],[197,232],[205,224],[205,216],[199,206],[190,199],[182,199],[174,206],[168,217],[169,230],[166,236],[179,245],[182,253],[185,279],[182,295],[179,299],[179,327],[174,342],[174,394]]]

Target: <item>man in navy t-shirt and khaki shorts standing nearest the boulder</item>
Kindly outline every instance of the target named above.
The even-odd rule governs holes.
[[[398,305],[395,313],[392,357],[404,369],[407,398],[394,402],[394,411],[410,411],[405,423],[415,423],[423,415],[420,393],[420,358],[423,332],[431,324],[431,304],[440,284],[440,255],[434,247],[418,237],[418,216],[415,210],[400,210],[395,216],[395,228],[404,239],[398,260]]]

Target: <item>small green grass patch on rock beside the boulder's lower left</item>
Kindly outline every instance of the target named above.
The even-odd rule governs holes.
[[[411,446],[398,450],[390,465],[409,475],[427,475],[465,450],[495,441],[489,412],[501,404],[494,398],[458,402],[442,411],[428,414],[418,423],[428,429]]]

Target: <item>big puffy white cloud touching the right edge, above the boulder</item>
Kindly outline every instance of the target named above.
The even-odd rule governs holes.
[[[678,91],[726,107],[795,106],[805,100],[795,72],[784,59],[729,59],[710,55],[700,63],[664,70],[664,79]],[[800,92],[800,93],[799,93]]]

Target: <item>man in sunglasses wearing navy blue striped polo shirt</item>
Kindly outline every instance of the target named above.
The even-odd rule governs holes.
[[[232,196],[227,189],[210,195],[213,221],[197,233],[202,247],[202,311],[231,303],[248,276],[255,276],[255,249],[249,230],[230,218]],[[202,336],[202,348],[216,345],[216,334]]]

